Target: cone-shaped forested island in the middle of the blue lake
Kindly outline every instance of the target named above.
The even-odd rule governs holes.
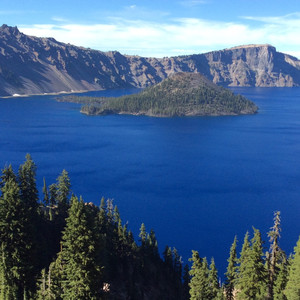
[[[152,117],[254,114],[257,106],[217,86],[199,73],[176,73],[142,92],[117,98],[67,96],[59,101],[82,103],[87,115],[130,114]]]

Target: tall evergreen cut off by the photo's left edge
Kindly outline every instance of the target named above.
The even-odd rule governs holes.
[[[1,299],[25,299],[33,292],[33,241],[27,207],[13,177],[0,197]]]

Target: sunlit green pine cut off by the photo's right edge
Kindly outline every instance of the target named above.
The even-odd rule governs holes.
[[[300,237],[294,248],[294,255],[290,262],[288,282],[284,294],[288,300],[300,299]]]

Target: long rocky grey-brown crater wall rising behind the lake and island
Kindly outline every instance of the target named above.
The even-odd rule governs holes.
[[[0,96],[146,87],[176,72],[199,72],[224,86],[300,86],[300,61],[269,45],[143,58],[0,27]]]

